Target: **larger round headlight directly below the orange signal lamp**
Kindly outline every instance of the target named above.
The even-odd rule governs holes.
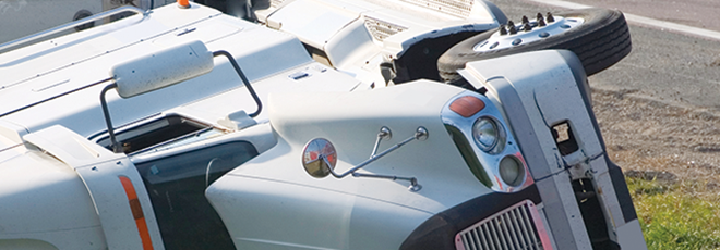
[[[499,153],[503,150],[504,137],[503,130],[491,117],[480,117],[472,125],[472,138],[482,151]]]

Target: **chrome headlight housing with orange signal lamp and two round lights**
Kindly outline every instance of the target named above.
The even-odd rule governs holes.
[[[460,93],[443,108],[442,117],[468,167],[487,187],[516,192],[535,183],[509,124],[488,97]]]

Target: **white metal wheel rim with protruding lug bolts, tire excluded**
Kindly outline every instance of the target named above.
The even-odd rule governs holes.
[[[552,16],[550,13],[548,17],[538,14],[538,18],[535,21],[528,21],[526,16],[523,16],[523,21],[519,25],[515,25],[513,21],[507,22],[507,25],[501,25],[490,38],[477,43],[472,50],[490,52],[532,43],[567,33],[585,23],[585,18],[581,17]],[[512,30],[512,27],[515,28],[515,32]]]

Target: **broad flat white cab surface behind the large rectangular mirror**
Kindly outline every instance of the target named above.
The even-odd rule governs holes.
[[[112,77],[110,68],[129,59],[192,40],[204,42],[209,51],[230,52],[248,79],[257,84],[255,88],[261,99],[266,99],[269,91],[312,89],[298,85],[300,82],[323,85],[314,91],[350,90],[358,85],[351,77],[313,62],[291,35],[200,4],[190,9],[170,4],[144,15],[136,14],[0,54],[0,75],[3,76],[0,78],[0,99],[3,100],[0,126],[19,134],[56,124],[82,136],[101,133],[105,121],[99,95]],[[223,115],[242,109],[254,110],[252,99],[228,60],[214,60],[215,68],[211,73],[158,91],[130,99],[109,91],[107,100],[113,124],[128,124],[199,101],[201,103],[195,105]],[[290,75],[295,73],[311,77],[293,79]],[[237,93],[227,93],[232,89]],[[215,96],[225,99],[208,98]],[[259,118],[264,116],[261,114]]]

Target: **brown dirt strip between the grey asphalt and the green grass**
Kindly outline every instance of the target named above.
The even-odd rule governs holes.
[[[629,176],[720,190],[720,115],[627,91],[592,89],[610,159]]]

